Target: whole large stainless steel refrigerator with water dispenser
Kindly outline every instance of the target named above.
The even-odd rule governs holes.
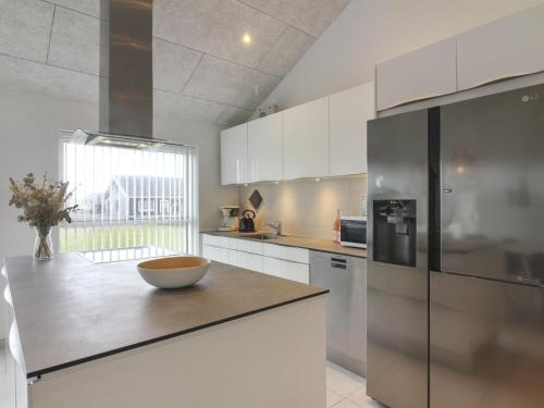
[[[542,407],[544,85],[368,131],[367,393]]]

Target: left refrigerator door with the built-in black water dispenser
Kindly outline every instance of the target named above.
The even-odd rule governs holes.
[[[367,393],[392,408],[428,406],[428,119],[368,123]]]

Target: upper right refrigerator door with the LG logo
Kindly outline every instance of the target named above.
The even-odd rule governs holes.
[[[442,271],[544,282],[544,86],[441,108]]]

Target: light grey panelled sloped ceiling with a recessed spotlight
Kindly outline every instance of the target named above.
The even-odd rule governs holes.
[[[154,0],[156,113],[243,122],[349,1]],[[0,0],[0,87],[98,103],[99,3]]]

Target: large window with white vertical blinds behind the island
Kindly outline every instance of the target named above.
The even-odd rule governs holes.
[[[196,148],[131,140],[61,138],[62,180],[79,209],[60,227],[60,251],[95,262],[196,254]]]

